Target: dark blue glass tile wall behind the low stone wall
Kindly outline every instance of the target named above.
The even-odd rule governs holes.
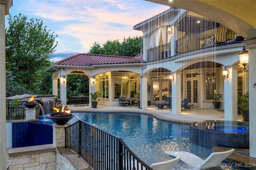
[[[51,125],[35,122],[12,123],[12,148],[52,143]]]

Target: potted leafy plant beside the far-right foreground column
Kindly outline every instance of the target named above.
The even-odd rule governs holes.
[[[242,121],[249,121],[249,92],[238,96],[237,106],[240,108]]]

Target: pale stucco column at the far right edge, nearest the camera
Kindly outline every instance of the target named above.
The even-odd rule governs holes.
[[[256,83],[256,39],[246,41],[249,55],[249,136],[250,136],[250,156],[256,158],[256,88],[253,85]]]

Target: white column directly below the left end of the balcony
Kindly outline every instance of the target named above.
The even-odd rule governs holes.
[[[148,76],[144,75],[141,77],[141,88],[140,88],[140,108],[148,108]]]

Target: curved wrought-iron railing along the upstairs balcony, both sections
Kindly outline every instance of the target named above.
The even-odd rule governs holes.
[[[190,33],[176,40],[175,55],[196,51],[198,49],[241,43],[242,41],[244,41],[244,38],[239,34],[223,25],[216,25],[207,30]],[[170,43],[148,49],[148,61],[157,61],[173,57],[170,53]]]

